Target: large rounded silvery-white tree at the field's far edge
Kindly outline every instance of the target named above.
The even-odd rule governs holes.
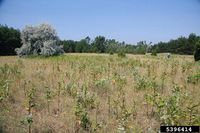
[[[59,38],[56,31],[49,24],[26,26],[21,31],[22,47],[17,48],[19,56],[24,55],[60,55],[64,51],[58,45]]]

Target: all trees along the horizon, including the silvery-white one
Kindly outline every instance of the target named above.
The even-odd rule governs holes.
[[[20,43],[22,42],[23,45]],[[55,30],[48,24],[36,27],[27,26],[21,31],[0,25],[0,55],[13,55],[14,49],[20,56],[23,55],[56,55],[64,50],[66,53],[131,53],[145,54],[147,52],[192,55],[199,51],[196,46],[200,42],[200,36],[191,33],[188,37],[179,37],[168,42],[159,42],[151,45],[146,41],[140,41],[136,45],[119,42],[115,39],[106,39],[97,36],[92,40],[90,37],[74,40],[59,40]],[[63,46],[63,50],[60,46]],[[197,55],[197,54],[196,54]]]

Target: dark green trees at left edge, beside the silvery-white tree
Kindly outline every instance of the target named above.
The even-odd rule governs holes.
[[[21,45],[19,30],[0,25],[0,55],[16,55],[15,48]]]

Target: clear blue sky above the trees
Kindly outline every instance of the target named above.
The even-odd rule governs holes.
[[[0,0],[0,24],[22,30],[40,23],[60,39],[157,43],[200,35],[200,0]]]

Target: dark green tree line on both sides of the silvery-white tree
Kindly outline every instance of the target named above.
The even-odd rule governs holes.
[[[38,31],[40,30],[36,30],[35,33]],[[18,29],[8,27],[7,25],[0,25],[0,55],[15,55],[15,49],[22,46],[22,33],[24,34],[23,31],[20,32]],[[32,38],[32,41],[34,41],[34,38]],[[37,44],[39,44],[39,42],[40,41],[38,41]],[[104,36],[97,36],[93,40],[89,36],[80,41],[59,40],[57,44],[63,46],[63,50],[66,53],[124,52],[145,54],[147,52],[170,52],[174,54],[192,55],[196,47],[200,45],[200,36],[191,33],[188,37],[179,37],[168,42],[159,42],[154,45],[146,41],[140,41],[135,45],[127,44],[125,42],[116,41],[115,39],[106,39]]]

